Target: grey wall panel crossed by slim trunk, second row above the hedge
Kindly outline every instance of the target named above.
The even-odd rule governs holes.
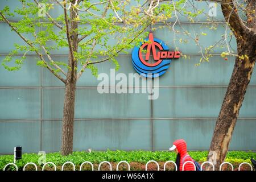
[[[63,118],[64,89],[43,90],[43,117]],[[101,114],[99,114],[101,113]],[[77,88],[75,118],[148,118],[145,94],[100,94],[97,88]]]

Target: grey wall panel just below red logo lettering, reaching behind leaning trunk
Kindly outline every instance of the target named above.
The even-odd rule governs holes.
[[[189,56],[188,59],[172,60],[170,68],[159,77],[160,86],[199,86],[228,85],[234,68],[234,57],[225,61],[221,56],[213,56],[209,62],[199,63],[200,56]],[[250,85],[256,84],[256,72],[251,76]]]

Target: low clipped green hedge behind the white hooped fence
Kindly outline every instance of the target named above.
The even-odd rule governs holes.
[[[208,151],[191,151],[189,155],[197,162],[204,162],[207,159]],[[38,164],[40,156],[38,154],[23,154],[22,159],[16,162],[19,169],[28,162]],[[250,158],[256,159],[256,152],[244,151],[230,151],[226,156],[226,162],[230,163],[250,163]],[[62,156],[59,152],[46,154],[46,161],[53,162],[57,166],[61,166],[65,162],[72,162],[76,165],[82,162],[89,161],[94,164],[99,164],[106,160],[108,162],[120,162],[126,160],[127,162],[147,163],[149,160],[156,160],[157,162],[166,162],[167,160],[175,161],[175,152],[168,151],[105,151],[105,152],[73,152],[68,156]],[[0,155],[0,170],[3,170],[7,163],[13,162],[13,155]]]

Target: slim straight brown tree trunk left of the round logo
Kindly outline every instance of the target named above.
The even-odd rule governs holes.
[[[70,11],[70,27],[69,32],[72,42],[73,52],[77,52],[78,49],[78,23],[75,20],[78,15],[77,9],[71,7]],[[62,143],[61,143],[61,154],[68,155],[73,152],[73,126],[75,119],[75,93],[76,93],[76,68],[77,61],[72,56],[71,50],[69,49],[69,59],[67,80],[65,85],[65,98],[64,98],[64,109],[63,109],[63,125],[62,125]]]

